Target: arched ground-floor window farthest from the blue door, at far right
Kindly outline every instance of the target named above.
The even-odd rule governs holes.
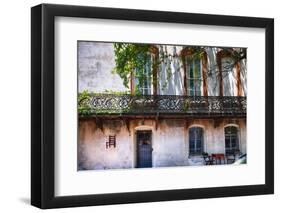
[[[225,135],[225,154],[233,155],[239,152],[238,128],[227,126],[224,128]]]

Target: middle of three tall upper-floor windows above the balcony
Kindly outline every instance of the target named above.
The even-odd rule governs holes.
[[[202,95],[202,69],[201,59],[187,59],[187,95],[201,96]]]

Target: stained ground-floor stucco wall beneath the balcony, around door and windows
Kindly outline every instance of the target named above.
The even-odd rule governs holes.
[[[104,121],[103,131],[94,119],[80,120],[78,140],[78,169],[121,169],[136,167],[137,130],[152,130],[152,166],[202,165],[201,156],[189,156],[188,129],[200,126],[204,129],[204,151],[225,153],[224,127],[232,124],[239,128],[239,147],[246,153],[245,119],[132,120],[129,130],[122,120]],[[116,148],[106,149],[109,135],[116,135]]]

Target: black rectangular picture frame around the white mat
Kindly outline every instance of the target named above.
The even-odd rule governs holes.
[[[265,184],[55,197],[55,17],[265,29]],[[39,208],[274,193],[274,20],[241,16],[41,4],[31,8],[31,204]]]

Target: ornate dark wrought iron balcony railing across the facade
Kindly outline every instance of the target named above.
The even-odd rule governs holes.
[[[91,94],[83,115],[246,116],[246,97]],[[84,111],[83,111],[84,109]]]

